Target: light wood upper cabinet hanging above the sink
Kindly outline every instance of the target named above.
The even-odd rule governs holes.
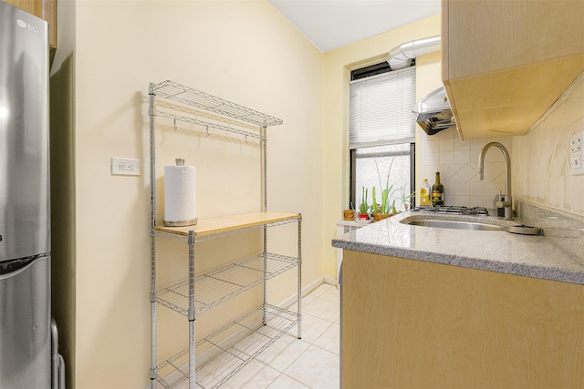
[[[442,11],[461,138],[525,134],[584,71],[582,0],[443,0]]]

